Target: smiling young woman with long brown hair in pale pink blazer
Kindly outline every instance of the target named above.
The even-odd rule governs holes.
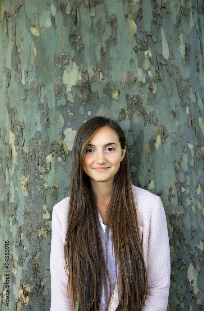
[[[112,118],[81,125],[70,197],[52,212],[50,311],[166,311],[170,247],[161,198],[131,183]]]

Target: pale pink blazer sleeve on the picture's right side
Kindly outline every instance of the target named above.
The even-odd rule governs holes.
[[[166,311],[170,289],[170,246],[165,210],[157,196],[147,249],[147,298],[142,311]]]

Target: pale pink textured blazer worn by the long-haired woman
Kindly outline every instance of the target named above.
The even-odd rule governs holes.
[[[159,196],[134,185],[132,189],[148,277],[148,295],[142,311],[166,311],[170,288],[170,247],[164,207]],[[55,204],[52,211],[50,311],[74,310],[70,296],[67,296],[67,275],[63,267],[69,200],[70,197],[64,198]],[[108,311],[116,310],[119,296],[120,284],[119,289],[115,285]]]

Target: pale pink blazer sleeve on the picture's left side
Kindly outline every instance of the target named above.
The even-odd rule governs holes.
[[[51,307],[50,311],[73,311],[70,295],[67,294],[68,277],[64,266],[64,243],[62,226],[57,216],[56,205],[52,211],[52,239],[50,251]],[[70,300],[69,300],[70,299]]]

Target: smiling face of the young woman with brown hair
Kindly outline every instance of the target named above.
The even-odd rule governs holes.
[[[84,172],[94,181],[113,180],[125,156],[116,132],[108,126],[90,139],[84,156]]]

